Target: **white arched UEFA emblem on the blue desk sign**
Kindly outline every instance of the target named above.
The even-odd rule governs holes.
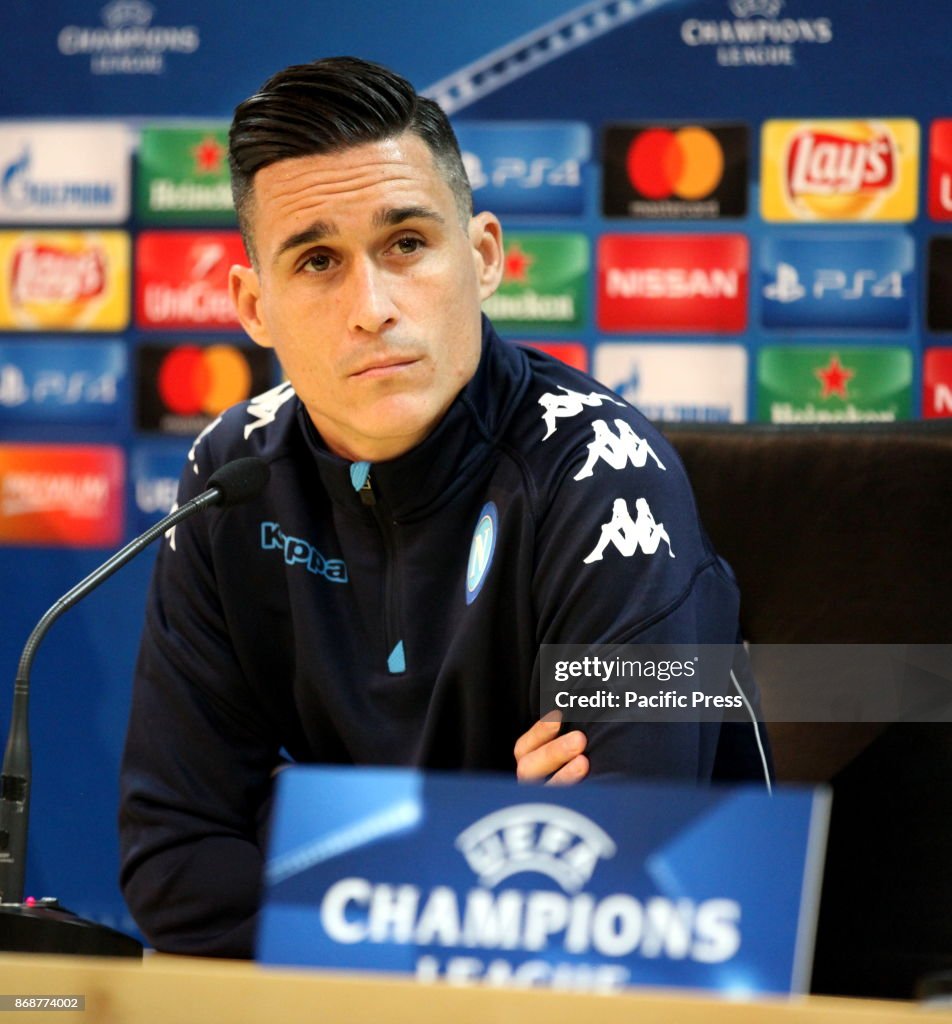
[[[599,860],[616,852],[611,837],[594,821],[553,804],[493,811],[460,833],[456,846],[487,888],[513,874],[537,871],[568,893],[578,892]]]

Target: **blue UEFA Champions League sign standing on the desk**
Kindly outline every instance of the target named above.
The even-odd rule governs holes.
[[[258,958],[422,980],[805,990],[828,802],[293,767]]]

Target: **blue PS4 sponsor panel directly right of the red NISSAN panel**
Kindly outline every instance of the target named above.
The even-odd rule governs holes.
[[[764,326],[899,331],[912,316],[915,246],[903,231],[768,238],[761,249]]]

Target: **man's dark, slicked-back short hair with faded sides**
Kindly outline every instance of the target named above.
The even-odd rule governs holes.
[[[248,255],[255,174],[279,160],[336,153],[403,132],[423,139],[449,185],[461,218],[473,212],[460,144],[432,99],[387,68],[358,57],[326,57],[272,75],[234,110],[228,132],[231,195]]]

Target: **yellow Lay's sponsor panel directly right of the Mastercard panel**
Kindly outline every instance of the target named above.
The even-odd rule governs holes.
[[[918,125],[769,121],[763,139],[765,220],[912,220]]]

